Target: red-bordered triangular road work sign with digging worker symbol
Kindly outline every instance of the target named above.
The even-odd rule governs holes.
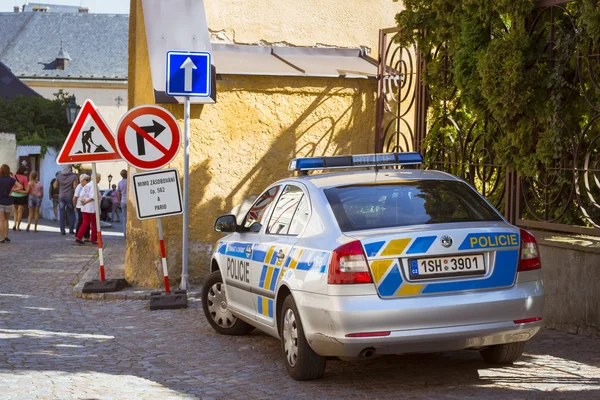
[[[57,164],[121,160],[115,136],[94,103],[87,99],[65,140]]]

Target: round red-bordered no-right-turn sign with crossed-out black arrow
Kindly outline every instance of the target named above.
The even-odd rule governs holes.
[[[139,169],[159,169],[175,158],[181,145],[179,125],[162,107],[144,105],[129,110],[117,128],[117,149]]]

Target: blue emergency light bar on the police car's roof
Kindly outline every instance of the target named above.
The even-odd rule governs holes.
[[[355,156],[330,156],[294,158],[288,171],[308,171],[313,169],[387,167],[422,164],[421,153],[379,153]]]

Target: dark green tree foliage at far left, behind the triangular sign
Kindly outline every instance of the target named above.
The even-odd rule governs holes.
[[[53,100],[17,96],[0,99],[0,132],[15,133],[20,145],[60,148],[69,133],[66,116],[69,95],[61,90]]]

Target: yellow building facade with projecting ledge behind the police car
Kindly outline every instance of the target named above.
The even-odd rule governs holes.
[[[217,102],[192,105],[190,151],[190,280],[200,281],[220,237],[217,216],[289,176],[294,157],[372,152],[378,29],[394,23],[400,4],[221,0],[205,2],[217,72]],[[142,1],[131,0],[129,107],[154,103]],[[271,46],[295,67],[250,53]],[[259,48],[259,49],[257,49]],[[354,56],[353,56],[354,54]],[[237,57],[237,58],[236,58]],[[354,57],[354,58],[353,58]],[[239,67],[242,65],[242,67]],[[348,71],[356,65],[361,71]],[[334,72],[327,72],[327,71]],[[352,73],[351,73],[352,72]],[[182,123],[183,106],[163,105]],[[182,170],[182,152],[171,163]],[[162,281],[153,220],[139,221],[129,193],[126,278]],[[169,273],[181,272],[182,218],[163,219]]]

